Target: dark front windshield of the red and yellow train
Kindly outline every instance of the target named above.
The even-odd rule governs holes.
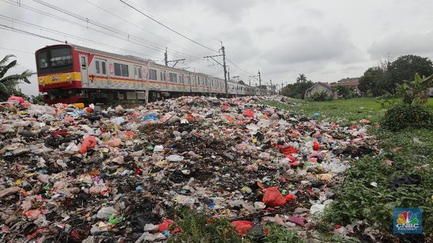
[[[38,73],[57,73],[72,70],[71,47],[53,47],[37,54]]]

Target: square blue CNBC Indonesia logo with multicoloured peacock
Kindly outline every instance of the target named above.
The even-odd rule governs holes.
[[[395,234],[420,234],[422,228],[422,211],[418,207],[395,208],[394,230]]]

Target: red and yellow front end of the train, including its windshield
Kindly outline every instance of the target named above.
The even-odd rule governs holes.
[[[36,51],[39,92],[45,103],[78,103],[84,99],[78,53],[72,45],[50,45]]]

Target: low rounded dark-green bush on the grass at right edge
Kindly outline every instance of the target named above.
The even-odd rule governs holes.
[[[433,115],[422,105],[399,103],[386,111],[380,124],[390,131],[404,128],[432,128]]]

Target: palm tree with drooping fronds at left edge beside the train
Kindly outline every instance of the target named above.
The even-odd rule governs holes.
[[[17,84],[20,82],[30,83],[29,78],[31,75],[34,75],[34,72],[26,70],[21,74],[12,74],[5,76],[10,68],[17,66],[17,60],[9,61],[11,57],[15,57],[14,55],[6,55],[0,61],[0,101],[6,100],[10,94],[13,94],[16,91]]]

